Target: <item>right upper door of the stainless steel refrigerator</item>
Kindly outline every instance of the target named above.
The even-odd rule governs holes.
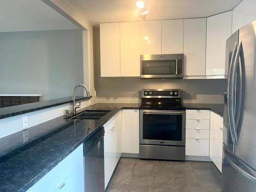
[[[238,48],[238,73],[241,74],[240,81],[236,87],[243,90],[241,102],[241,115],[236,117],[235,134],[237,143],[234,146],[234,154],[256,170],[256,21],[239,30]],[[236,64],[236,63],[235,63]],[[244,87],[244,89],[241,88]],[[238,97],[238,96],[237,96]],[[241,95],[240,95],[241,97]],[[240,111],[238,109],[238,111]],[[239,120],[240,119],[240,120]]]

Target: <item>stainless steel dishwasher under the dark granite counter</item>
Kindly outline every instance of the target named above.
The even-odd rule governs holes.
[[[84,180],[87,192],[104,191],[104,128],[83,143]]]

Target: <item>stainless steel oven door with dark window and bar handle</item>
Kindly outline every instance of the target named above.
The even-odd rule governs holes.
[[[185,146],[185,111],[140,110],[140,144]]]

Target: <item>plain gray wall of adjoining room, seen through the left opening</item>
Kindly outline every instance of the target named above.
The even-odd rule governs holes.
[[[83,83],[82,31],[0,33],[0,82],[0,94],[71,96]]]

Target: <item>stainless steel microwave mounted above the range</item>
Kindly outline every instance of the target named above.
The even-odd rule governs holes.
[[[140,55],[140,78],[183,78],[183,54]]]

